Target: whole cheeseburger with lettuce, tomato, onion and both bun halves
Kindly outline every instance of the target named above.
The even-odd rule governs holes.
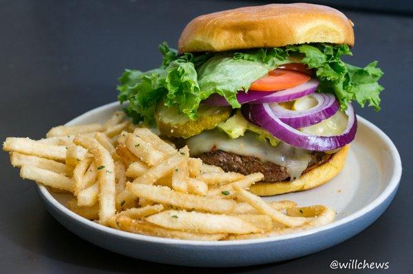
[[[377,62],[356,67],[353,23],[324,5],[271,4],[206,14],[161,65],[126,69],[120,102],[191,156],[226,172],[262,172],[260,196],[337,176],[357,130],[352,102],[380,109]]]

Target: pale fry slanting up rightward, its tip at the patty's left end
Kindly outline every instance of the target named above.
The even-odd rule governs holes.
[[[162,163],[149,168],[145,174],[139,176],[134,180],[133,183],[156,183],[160,178],[172,172],[174,168],[184,163],[188,159],[187,155],[180,150],[172,155],[169,155],[167,159],[162,161]]]

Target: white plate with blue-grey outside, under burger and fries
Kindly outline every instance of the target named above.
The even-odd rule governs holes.
[[[114,102],[89,111],[69,125],[103,122],[121,106]],[[401,177],[399,152],[374,124],[357,116],[359,128],[348,152],[345,168],[329,183],[313,190],[266,198],[290,199],[299,205],[324,204],[337,210],[334,222],[273,238],[198,242],[143,236],[77,216],[65,207],[68,194],[39,194],[50,213],[81,238],[133,258],[185,266],[246,266],[297,258],[331,247],[374,222],[388,207]]]

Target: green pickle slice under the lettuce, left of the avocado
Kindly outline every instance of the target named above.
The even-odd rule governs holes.
[[[200,105],[198,119],[191,120],[173,107],[160,104],[156,110],[156,124],[162,135],[189,138],[204,130],[215,128],[231,115],[231,106]]]

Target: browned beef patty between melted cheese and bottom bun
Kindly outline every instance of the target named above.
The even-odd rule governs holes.
[[[304,172],[308,172],[317,166],[326,163],[332,155],[325,152],[313,152],[311,161]],[[277,165],[268,161],[262,161],[257,157],[237,155],[222,150],[211,150],[197,156],[204,163],[216,165],[225,172],[238,172],[244,175],[261,172],[264,174],[263,181],[279,182],[290,179],[287,169],[284,166]],[[303,172],[303,173],[304,173]]]

